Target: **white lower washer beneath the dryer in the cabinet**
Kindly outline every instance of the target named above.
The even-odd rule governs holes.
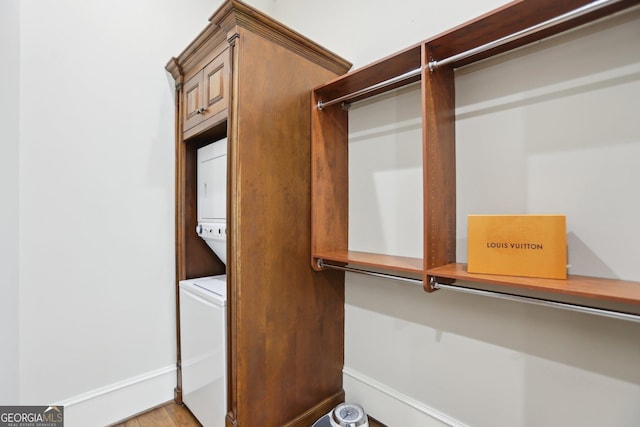
[[[227,281],[180,282],[182,400],[204,427],[224,427],[227,411]]]

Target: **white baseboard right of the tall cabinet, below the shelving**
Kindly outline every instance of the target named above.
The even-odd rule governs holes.
[[[356,370],[345,367],[342,374],[346,401],[362,405],[365,412],[389,427],[467,427]]]

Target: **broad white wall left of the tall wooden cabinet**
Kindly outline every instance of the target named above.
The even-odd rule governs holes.
[[[173,398],[174,85],[164,66],[221,1],[11,3],[20,365],[2,372],[19,372],[20,403],[60,403],[69,426],[105,425]],[[17,230],[17,215],[2,215]]]

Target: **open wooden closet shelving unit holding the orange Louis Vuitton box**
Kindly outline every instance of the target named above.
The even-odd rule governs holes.
[[[312,92],[311,264],[326,268],[382,270],[422,282],[456,280],[497,285],[506,293],[533,290],[640,306],[640,283],[596,277],[567,280],[470,274],[455,262],[456,164],[454,69],[638,4],[638,1],[520,0],[432,39],[333,79]],[[517,35],[517,37],[511,37]],[[349,250],[348,112],[343,103],[421,82],[423,130],[424,248],[422,258]],[[326,233],[325,230],[332,230]]]

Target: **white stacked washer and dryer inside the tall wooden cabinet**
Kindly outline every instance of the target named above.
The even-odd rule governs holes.
[[[227,140],[198,149],[196,233],[227,262]],[[227,281],[225,275],[180,286],[182,400],[204,427],[225,425]]]

